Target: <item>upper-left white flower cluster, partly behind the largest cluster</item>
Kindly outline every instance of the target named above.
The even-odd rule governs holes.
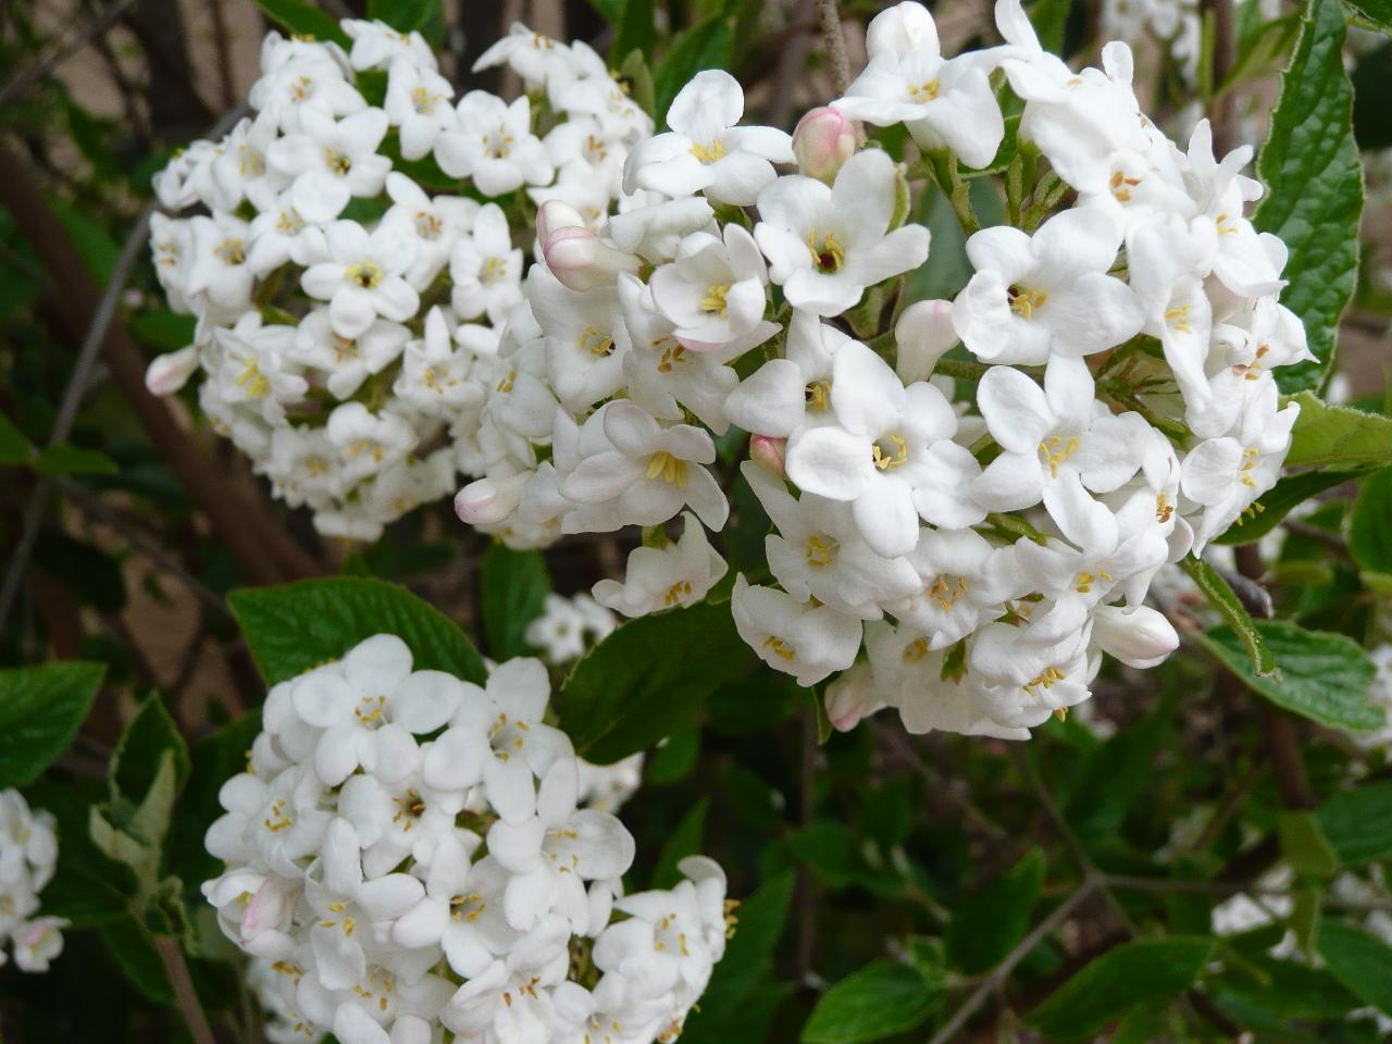
[[[170,305],[198,326],[146,383],[202,370],[203,412],[276,496],[374,540],[482,473],[477,412],[522,298],[512,228],[550,199],[597,221],[651,121],[583,43],[514,26],[479,67],[544,64],[548,92],[455,103],[419,33],[342,26],[348,53],[270,33],[255,116],[156,177],[171,213],[200,212],[152,223]]]

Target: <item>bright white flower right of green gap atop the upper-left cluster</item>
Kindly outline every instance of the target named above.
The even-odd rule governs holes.
[[[486,196],[501,196],[522,185],[544,185],[555,174],[546,146],[532,134],[532,110],[523,95],[512,104],[484,90],[470,90],[455,109],[458,127],[434,145],[440,168],[472,178]]]

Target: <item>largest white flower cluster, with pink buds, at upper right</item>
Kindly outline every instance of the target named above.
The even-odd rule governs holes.
[[[597,230],[544,206],[483,406],[507,452],[459,515],[543,543],[689,508],[594,592],[688,604],[725,571],[700,523],[725,525],[713,436],[739,427],[778,586],[736,578],[735,622],[802,685],[842,672],[837,727],[892,706],[915,732],[1025,738],[1087,699],[1101,651],[1162,660],[1151,578],[1258,509],[1289,447],[1271,370],[1310,356],[1276,299],[1285,248],[1244,217],[1250,149],[1215,159],[1207,124],[1176,148],[1125,45],[1075,72],[1018,0],[997,21],[1005,46],[944,57],[924,7],[883,11],[869,65],[791,139],[700,72],[628,159],[642,205]],[[1006,188],[1029,220],[972,235],[956,299],[888,327],[896,278],[933,264],[913,181],[951,191],[1005,141],[992,78],[1023,102]],[[855,121],[905,127],[922,164]],[[954,383],[934,370],[959,342],[979,363],[944,365]]]

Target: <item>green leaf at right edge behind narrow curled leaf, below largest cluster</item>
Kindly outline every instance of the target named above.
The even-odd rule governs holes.
[[[1229,628],[1211,628],[1199,640],[1249,689],[1279,707],[1322,725],[1359,732],[1385,724],[1382,710],[1368,702],[1377,670],[1357,642],[1345,635],[1306,631],[1286,619],[1264,619],[1256,626],[1281,667],[1279,677],[1253,675],[1242,643]]]

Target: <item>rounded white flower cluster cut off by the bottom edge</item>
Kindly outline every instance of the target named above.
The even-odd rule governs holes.
[[[271,1040],[671,1040],[724,954],[725,876],[624,895],[633,838],[580,806],[546,724],[550,682],[511,660],[479,688],[412,671],[376,635],[271,689],[249,767],[207,831],[203,885],[258,958]],[[631,766],[585,784],[622,798]]]

